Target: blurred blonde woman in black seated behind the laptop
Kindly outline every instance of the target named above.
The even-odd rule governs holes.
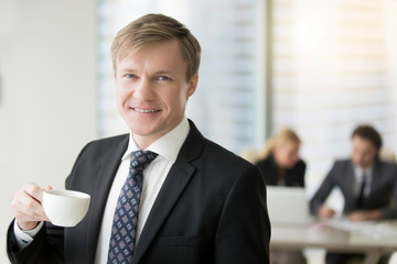
[[[266,185],[304,187],[305,163],[299,157],[301,141],[296,132],[285,129],[271,138],[256,165]],[[288,210],[288,208],[285,208]],[[270,264],[305,264],[300,251],[270,250]]]

